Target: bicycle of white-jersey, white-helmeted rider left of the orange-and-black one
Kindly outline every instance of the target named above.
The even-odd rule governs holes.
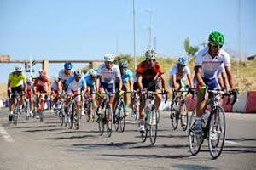
[[[104,93],[104,97],[102,100],[102,105],[99,105],[96,111],[98,115],[98,127],[99,133],[102,136],[105,130],[105,126],[107,127],[107,134],[108,137],[112,134],[112,127],[113,127],[113,112],[110,107],[109,98],[113,95],[113,93],[108,93],[107,91]],[[102,98],[101,96],[98,96]]]

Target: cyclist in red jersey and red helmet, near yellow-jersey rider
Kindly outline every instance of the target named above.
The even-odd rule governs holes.
[[[39,76],[36,77],[34,83],[34,91],[37,96],[37,101],[40,101],[40,103],[37,102],[37,112],[44,111],[44,102],[48,99],[48,96],[50,95],[50,84],[48,77],[46,77],[46,71],[41,69],[38,73]],[[38,114],[36,118],[39,119]]]

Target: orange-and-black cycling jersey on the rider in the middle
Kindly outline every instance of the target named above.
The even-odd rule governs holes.
[[[158,62],[155,62],[154,67],[150,69],[148,62],[145,60],[137,66],[137,74],[143,75],[143,79],[149,81],[154,79],[156,74],[164,74],[164,70]]]

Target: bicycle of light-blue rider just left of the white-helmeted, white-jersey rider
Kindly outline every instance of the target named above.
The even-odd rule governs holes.
[[[84,98],[84,114],[87,115],[87,122],[95,122],[96,111],[92,109],[91,94],[86,94]]]

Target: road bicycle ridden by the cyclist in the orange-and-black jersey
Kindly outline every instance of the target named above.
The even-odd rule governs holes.
[[[146,99],[146,117],[145,117],[145,132],[141,132],[141,138],[143,142],[145,142],[148,138],[148,131],[150,142],[152,145],[155,144],[157,138],[158,131],[158,123],[160,121],[160,111],[156,108],[154,100],[157,94],[167,94],[167,93],[156,93],[152,91],[148,91],[147,89],[143,91],[143,99]],[[167,96],[165,103],[167,101]]]

